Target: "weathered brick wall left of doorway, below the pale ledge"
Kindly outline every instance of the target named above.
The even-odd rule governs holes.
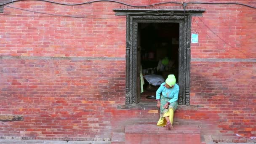
[[[0,72],[0,114],[24,115],[3,136],[101,136],[125,101],[125,61],[4,59]]]

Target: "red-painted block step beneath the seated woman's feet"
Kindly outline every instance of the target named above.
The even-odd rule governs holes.
[[[125,144],[201,144],[197,125],[125,125]]]

